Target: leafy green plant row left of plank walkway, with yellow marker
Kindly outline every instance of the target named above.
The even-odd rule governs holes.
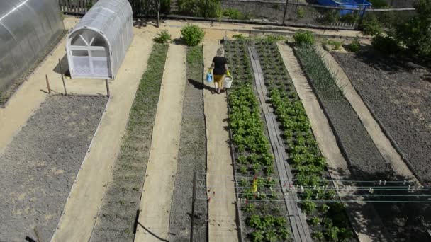
[[[279,182],[274,178],[274,156],[252,88],[248,43],[249,40],[225,42],[230,72],[236,80],[228,96],[229,126],[235,147],[235,173],[242,176],[237,180],[237,192],[247,201],[241,207],[246,226],[243,229],[250,241],[288,241],[286,208],[274,202],[281,199]]]

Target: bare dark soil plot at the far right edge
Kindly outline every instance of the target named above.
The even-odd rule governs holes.
[[[430,70],[377,54],[333,53],[354,88],[393,137],[414,173],[431,185]]]

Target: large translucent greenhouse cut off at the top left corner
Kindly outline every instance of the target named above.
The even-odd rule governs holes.
[[[64,33],[57,0],[0,1],[0,92]]]

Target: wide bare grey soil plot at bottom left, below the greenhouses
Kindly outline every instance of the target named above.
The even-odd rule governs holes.
[[[0,241],[49,241],[108,98],[50,96],[0,156]]]

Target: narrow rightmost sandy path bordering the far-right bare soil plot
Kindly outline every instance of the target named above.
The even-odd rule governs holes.
[[[362,121],[366,131],[369,133],[371,139],[373,139],[374,144],[376,144],[377,149],[381,156],[391,165],[393,171],[398,175],[403,175],[405,178],[414,179],[413,173],[410,171],[408,166],[405,165],[403,159],[398,154],[396,149],[393,148],[388,137],[381,130],[379,124],[374,120],[374,117],[369,112],[368,108],[362,101],[362,98],[354,90],[352,83],[345,74],[345,71],[340,67],[337,61],[332,57],[332,54],[323,50],[323,47],[318,46],[316,50],[319,54],[323,56],[325,64],[332,70],[332,73],[336,76],[337,86],[342,88],[346,99],[349,101],[352,108],[357,113],[359,119]]]

